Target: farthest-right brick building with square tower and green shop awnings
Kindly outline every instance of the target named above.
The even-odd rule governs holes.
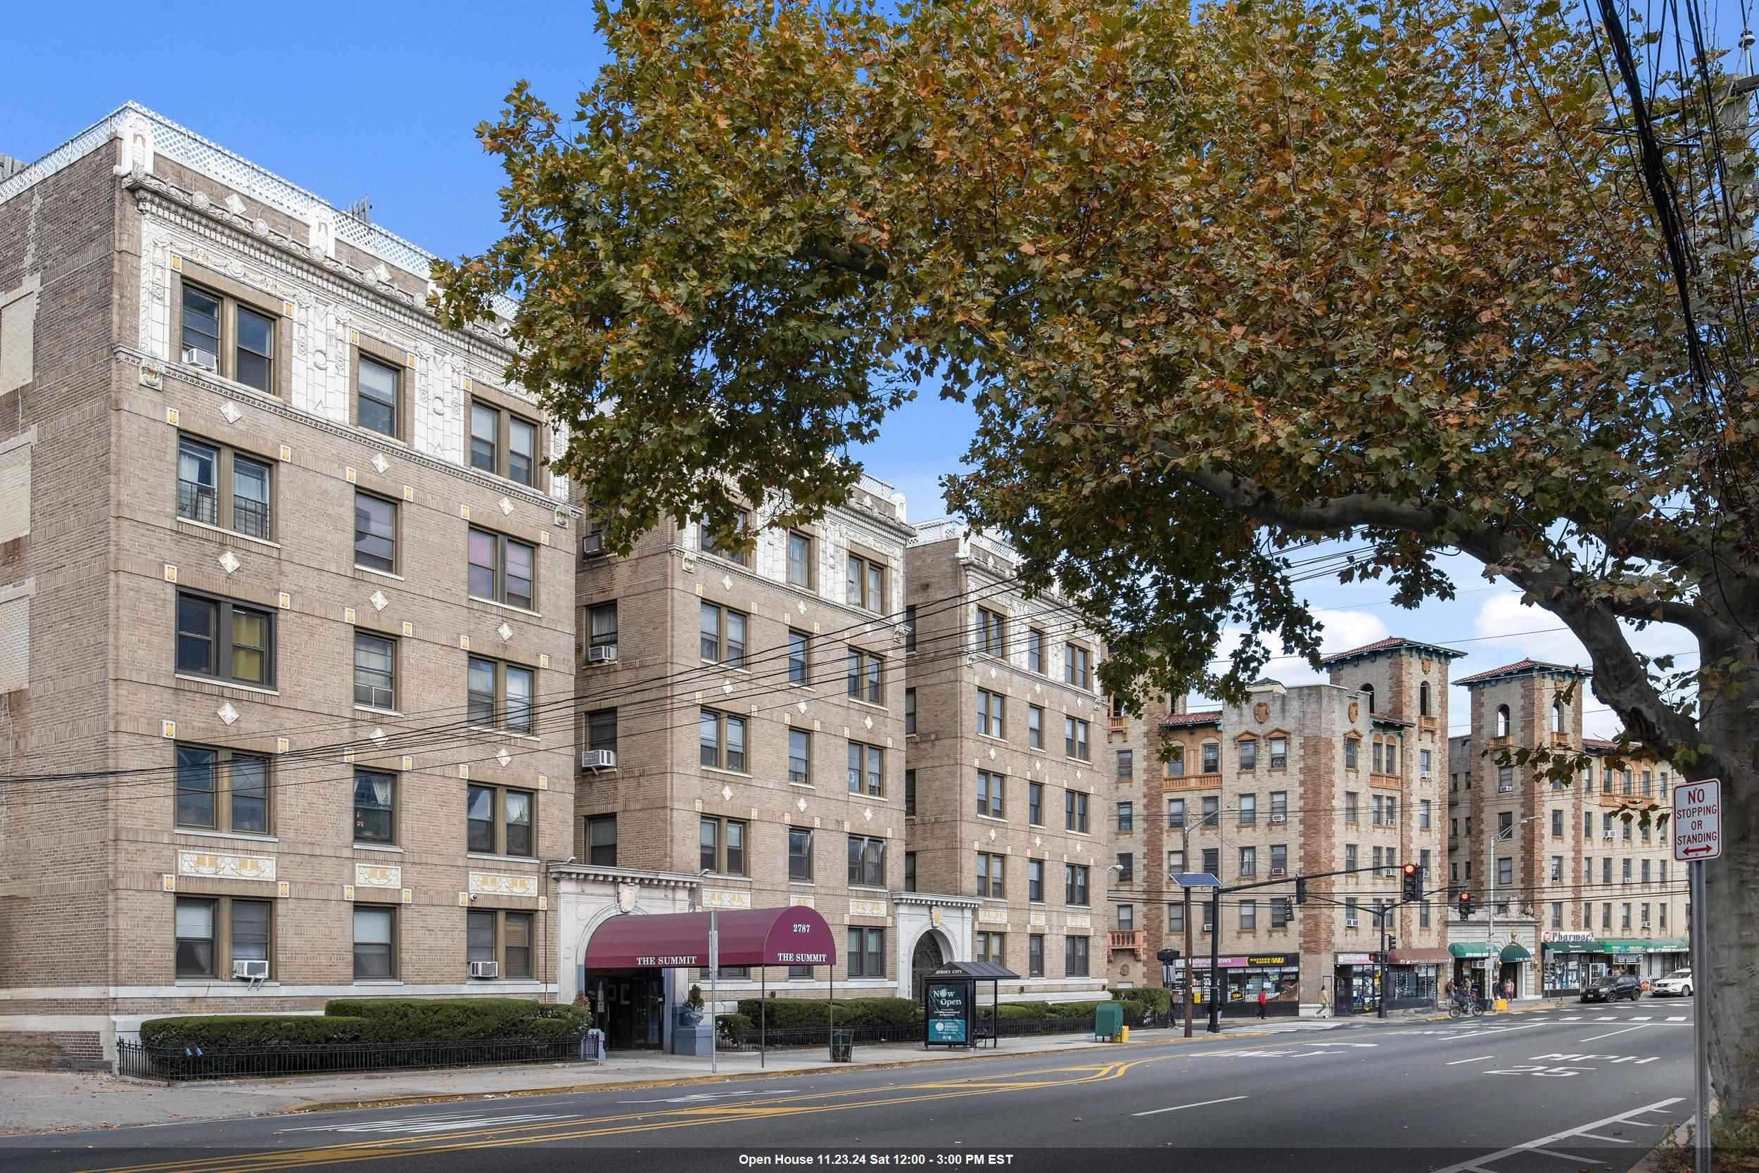
[[[1580,990],[1617,969],[1660,976],[1689,958],[1685,867],[1653,816],[1641,818],[1668,807],[1671,767],[1641,751],[1620,760],[1611,742],[1583,737],[1587,681],[1581,668],[1536,659],[1458,681],[1472,695],[1472,725],[1449,742],[1449,881],[1481,906],[1492,881],[1497,895],[1493,939],[1488,913],[1456,922],[1451,939],[1474,973],[1493,944],[1497,980],[1520,995]],[[1499,763],[1522,747],[1594,761],[1564,784],[1534,765]]]

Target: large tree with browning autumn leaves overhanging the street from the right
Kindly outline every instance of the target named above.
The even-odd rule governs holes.
[[[939,380],[980,412],[952,503],[1080,601],[1119,691],[1233,700],[1274,644],[1316,656],[1293,543],[1353,536],[1344,577],[1411,607],[1463,550],[1581,638],[1629,739],[1726,779],[1699,997],[1724,1103],[1759,1103],[1754,259],[1710,216],[1748,204],[1673,148],[1696,375],[1597,30],[1555,0],[628,0],[600,32],[572,123],[521,86],[482,127],[508,229],[436,278],[452,320],[519,299],[510,376],[614,547],[765,491],[820,512]],[[1697,665],[1639,654],[1652,623]]]

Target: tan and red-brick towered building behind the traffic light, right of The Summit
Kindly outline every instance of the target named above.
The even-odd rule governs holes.
[[[1390,638],[1330,656],[1330,684],[1266,681],[1240,707],[1175,703],[1147,723],[1113,721],[1113,753],[1129,753],[1131,769],[1110,786],[1119,805],[1133,804],[1129,827],[1115,832],[1115,849],[1133,860],[1131,879],[1113,890],[1113,978],[1159,985],[1156,953],[1184,950],[1184,900],[1168,872],[1212,872],[1226,886],[1377,867],[1312,879],[1305,904],[1295,904],[1293,883],[1224,895],[1219,980],[1208,971],[1208,906],[1193,902],[1194,985],[1203,997],[1215,990],[1224,1013],[1256,1015],[1259,988],[1272,1013],[1372,1009],[1372,913],[1400,900],[1409,860],[1428,869],[1428,899],[1390,916],[1388,1006],[1432,1004],[1449,958],[1441,770],[1448,663],[1458,654]],[[1168,744],[1177,754],[1163,761]],[[1175,983],[1182,973],[1184,958]]]

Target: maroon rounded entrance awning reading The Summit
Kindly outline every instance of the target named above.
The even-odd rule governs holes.
[[[836,965],[837,943],[814,909],[755,907],[716,913],[721,965]],[[586,969],[705,969],[707,913],[624,914],[586,943]]]

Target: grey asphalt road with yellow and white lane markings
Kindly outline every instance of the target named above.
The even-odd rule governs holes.
[[[9,1173],[976,1164],[1624,1173],[1692,1113],[1692,1001],[7,1138]],[[857,1055],[860,1059],[860,1055]]]

